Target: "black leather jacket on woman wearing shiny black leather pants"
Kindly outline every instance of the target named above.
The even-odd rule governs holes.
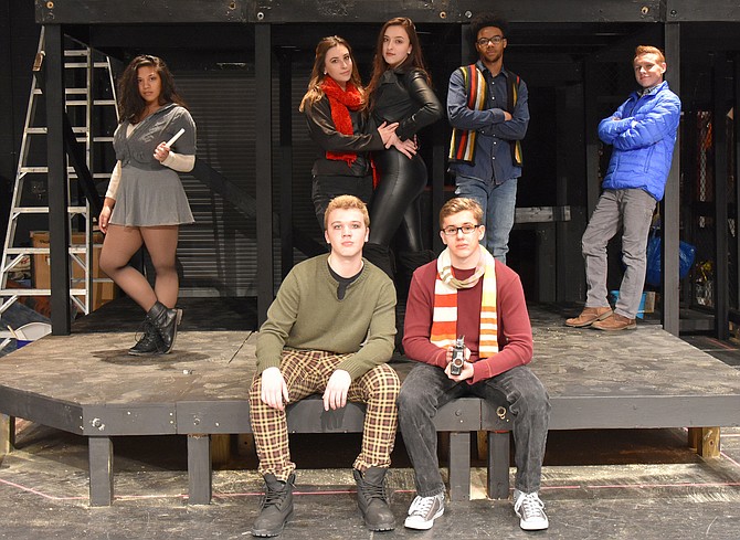
[[[376,93],[373,118],[378,125],[400,123],[395,135],[401,140],[442,118],[442,104],[419,70],[387,70]]]

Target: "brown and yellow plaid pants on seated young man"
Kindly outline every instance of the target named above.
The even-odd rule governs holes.
[[[310,394],[324,393],[337,366],[347,354],[326,351],[285,349],[281,372],[288,388],[290,403]],[[398,410],[395,400],[401,383],[393,368],[383,363],[352,381],[348,401],[367,404],[362,430],[362,449],[353,467],[364,472],[369,467],[389,467],[395,442]],[[262,377],[255,374],[250,390],[252,432],[260,458],[260,474],[273,474],[287,480],[296,468],[290,462],[288,427],[285,411],[267,406],[262,401]]]

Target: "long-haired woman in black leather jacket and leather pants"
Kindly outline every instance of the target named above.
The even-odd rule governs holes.
[[[401,140],[415,140],[421,128],[442,118],[442,104],[432,91],[411,19],[391,19],[380,30],[367,92],[376,123],[399,123],[395,135]],[[426,187],[426,165],[421,156],[409,159],[394,148],[373,152],[373,159],[379,183],[364,253],[391,274],[389,246],[397,235],[399,267],[410,278],[417,266],[431,260],[421,234],[420,195]]]

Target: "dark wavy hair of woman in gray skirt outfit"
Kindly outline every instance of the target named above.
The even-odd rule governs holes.
[[[158,56],[141,54],[129,62],[124,74],[118,81],[118,118],[119,121],[129,120],[136,124],[140,120],[147,102],[139,94],[138,71],[139,67],[152,66],[159,74],[162,88],[159,94],[159,105],[176,103],[188,108],[184,99],[180,97],[175,87],[175,77],[165,61]]]

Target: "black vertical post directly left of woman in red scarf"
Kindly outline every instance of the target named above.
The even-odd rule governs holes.
[[[257,198],[257,324],[267,320],[273,301],[273,141],[272,141],[272,39],[271,25],[254,29],[254,163]]]

